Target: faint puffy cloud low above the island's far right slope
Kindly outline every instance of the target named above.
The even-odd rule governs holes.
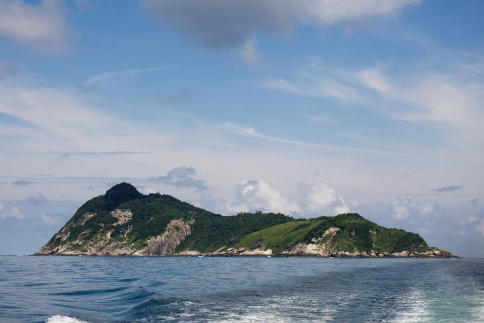
[[[437,209],[437,204],[430,201],[417,201],[412,195],[396,198],[391,205],[391,215],[395,219],[407,219],[413,216],[426,216]]]

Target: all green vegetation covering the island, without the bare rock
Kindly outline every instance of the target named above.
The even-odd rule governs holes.
[[[130,210],[132,218],[117,224],[118,219],[111,215],[115,209]],[[191,227],[191,234],[178,245],[177,252],[209,253],[220,248],[255,249],[263,246],[278,253],[299,243],[320,244],[329,240],[333,249],[349,252],[421,252],[428,249],[419,235],[379,226],[356,213],[307,220],[260,212],[222,216],[169,195],[143,195],[128,183],[118,184],[106,194],[84,203],[47,246],[65,245],[79,239],[95,241],[110,233],[112,241],[140,249],[150,238],[162,235],[170,221],[175,219],[189,222]],[[329,228],[339,230],[331,237],[325,237]],[[63,229],[65,232],[61,235]],[[175,229],[180,230],[179,227]],[[69,233],[67,237],[66,232]],[[74,244],[72,248],[78,247]]]

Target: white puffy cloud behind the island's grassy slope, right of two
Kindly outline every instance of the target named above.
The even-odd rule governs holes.
[[[302,204],[310,214],[335,215],[350,211],[343,197],[327,182],[321,181],[313,185],[299,182],[298,189]]]

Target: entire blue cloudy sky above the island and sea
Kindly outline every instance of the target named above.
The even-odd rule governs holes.
[[[127,181],[484,257],[481,1],[0,2],[0,254]]]

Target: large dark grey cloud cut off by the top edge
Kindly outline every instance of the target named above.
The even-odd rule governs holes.
[[[257,32],[287,34],[297,24],[328,26],[392,16],[419,0],[142,0],[164,24],[210,49],[237,49]],[[249,43],[250,45],[250,43]]]

